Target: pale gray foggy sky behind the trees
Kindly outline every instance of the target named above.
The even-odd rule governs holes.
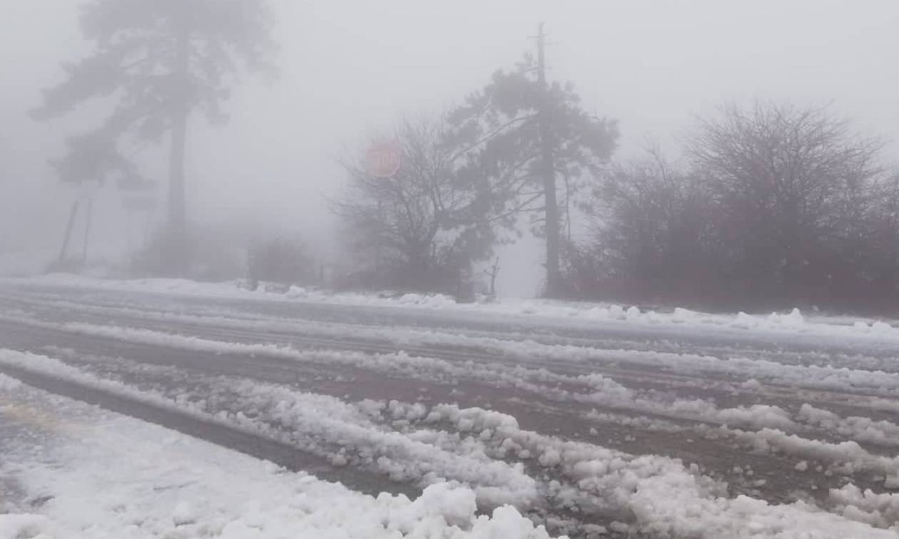
[[[22,251],[26,235],[29,247],[56,247],[73,195],[55,184],[45,162],[67,132],[93,122],[91,112],[50,124],[24,114],[40,101],[41,87],[58,81],[59,63],[85,48],[78,2],[4,4],[0,256]],[[649,136],[674,150],[694,113],[732,99],[832,103],[866,133],[899,139],[895,0],[274,5],[279,78],[246,81],[228,104],[227,127],[191,126],[193,209],[207,220],[254,218],[322,237],[330,218],[321,196],[340,188],[334,155],[343,145],[400,114],[460,102],[532,47],[528,37],[539,21],[552,42],[552,77],[573,81],[588,108],[619,119],[619,156],[635,153]],[[888,150],[896,154],[899,146]],[[511,288],[524,290],[530,278]]]

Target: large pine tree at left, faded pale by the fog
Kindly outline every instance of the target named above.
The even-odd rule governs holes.
[[[271,12],[267,0],[93,0],[81,8],[93,51],[64,65],[65,80],[43,95],[35,119],[66,115],[93,100],[111,103],[102,125],[69,140],[55,162],[63,181],[133,181],[123,148],[170,144],[168,237],[174,272],[184,270],[184,156],[187,127],[197,112],[213,123],[241,68],[270,69]]]

